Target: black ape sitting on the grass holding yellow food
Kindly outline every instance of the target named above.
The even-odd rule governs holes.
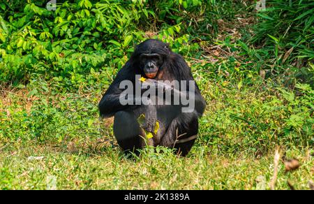
[[[119,87],[124,80],[129,80],[134,87],[136,83],[141,83],[135,78],[135,75],[140,75],[144,78],[149,78],[144,83],[150,86],[155,86],[160,90],[160,86],[165,92],[166,89],[172,89],[172,95],[179,93],[180,96],[186,96],[189,99],[192,88],[195,97],[193,97],[195,108],[190,112],[182,112],[182,103],[174,104],[174,99],[171,99],[170,105],[156,104],[156,101],[165,99],[160,98],[160,95],[150,94],[149,103],[146,105],[121,104],[121,93],[124,89]],[[193,81],[193,87],[190,87],[188,82],[186,92],[179,89],[159,83],[160,80],[182,80]],[[142,83],[142,85],[144,84]],[[147,87],[141,87],[142,91],[147,90]],[[128,96],[131,101],[137,98]],[[142,96],[142,95],[141,95]],[[124,96],[122,96],[123,98]],[[154,100],[153,100],[154,99]],[[192,98],[191,98],[192,99]],[[100,115],[102,117],[114,116],[114,135],[117,138],[119,145],[124,150],[136,150],[144,145],[162,145],[165,147],[174,147],[179,154],[185,156],[190,151],[190,148],[195,142],[198,131],[198,117],[202,115],[205,108],[205,101],[200,94],[190,68],[180,54],[176,54],[170,50],[167,44],[158,40],[147,40],[140,45],[137,45],[126,65],[121,68],[117,77],[112,82],[112,85],[103,95],[99,105]],[[144,124],[137,122],[138,117],[144,114]],[[159,129],[153,138],[145,139],[145,132],[154,132],[156,121],[159,123]]]

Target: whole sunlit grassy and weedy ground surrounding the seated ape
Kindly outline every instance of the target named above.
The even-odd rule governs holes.
[[[207,109],[186,158],[163,148],[126,158],[114,140],[112,119],[98,117],[101,87],[71,93],[44,80],[2,87],[0,189],[46,189],[51,177],[57,189],[269,189],[277,146],[283,159],[276,189],[290,189],[288,181],[309,189],[313,135],[304,126],[311,116],[294,125],[291,115],[301,107],[296,101],[311,98],[289,101],[289,92],[276,89],[273,80],[226,75],[217,71],[221,63],[191,63]],[[285,173],[282,161],[291,158],[301,166]]]

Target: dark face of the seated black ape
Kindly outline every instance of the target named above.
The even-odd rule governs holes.
[[[140,54],[140,66],[147,78],[155,78],[160,66],[163,64],[162,57],[159,54]]]

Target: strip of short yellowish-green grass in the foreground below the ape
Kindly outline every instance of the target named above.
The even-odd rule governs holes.
[[[273,156],[217,156],[194,151],[188,158],[146,152],[126,159],[107,148],[98,154],[79,150],[75,154],[56,147],[17,145],[1,151],[1,189],[46,189],[47,177],[57,178],[57,189],[269,189]],[[291,150],[302,166],[284,173],[279,166],[276,189],[308,189],[313,179],[313,159],[308,152]],[[43,156],[29,160],[29,156]]]

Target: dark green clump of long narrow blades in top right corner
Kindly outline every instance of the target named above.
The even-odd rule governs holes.
[[[301,59],[314,59],[313,12],[311,0],[267,1],[267,9],[257,13],[252,41],[264,45],[265,57],[276,57],[276,64],[289,64],[299,59],[301,67],[304,65]]]

